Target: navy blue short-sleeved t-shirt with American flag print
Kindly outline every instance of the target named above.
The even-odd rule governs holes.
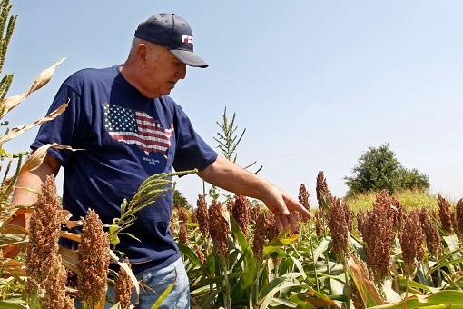
[[[70,145],[80,151],[50,148],[48,154],[64,167],[64,208],[73,220],[92,208],[104,224],[121,216],[123,199],[130,201],[153,174],[212,164],[217,153],[197,135],[182,107],[168,96],[150,99],[130,85],[119,65],[84,69],[59,89],[50,111],[63,103],[64,114],[40,127],[31,147]],[[169,222],[172,191],[135,214],[137,220],[120,235],[116,249],[130,259],[135,274],[171,264],[180,257]]]

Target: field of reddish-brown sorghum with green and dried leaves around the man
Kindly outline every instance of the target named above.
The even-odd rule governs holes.
[[[0,1],[0,72],[15,27],[10,9],[9,1]],[[61,61],[20,95],[5,97],[13,79],[5,75],[0,119],[46,85]],[[64,146],[46,145],[29,155],[8,153],[5,143],[65,108],[64,103],[33,125],[10,130],[6,121],[0,124],[5,128],[0,135],[0,248],[21,247],[14,258],[0,254],[0,308],[74,308],[75,297],[84,308],[133,308],[143,286],[117,251],[118,234],[136,224],[137,212],[170,190],[178,174],[147,179],[132,201],[123,202],[121,217],[112,224],[103,224],[92,205],[86,217],[70,221],[54,177],[48,177],[35,204],[13,207],[18,175],[40,164],[47,147]],[[322,171],[307,184],[317,195],[310,198],[300,184],[300,203],[310,208],[312,218],[300,218],[299,233],[279,230],[272,214],[246,196],[199,194],[191,208],[172,205],[171,231],[190,279],[193,308],[463,307],[463,199],[453,203],[439,194],[382,191],[343,200],[330,193]],[[7,225],[20,213],[32,215],[28,228]],[[82,234],[70,232],[75,226],[82,226]],[[80,243],[79,249],[60,246],[61,238]],[[106,298],[108,286],[114,287],[114,299]]]

